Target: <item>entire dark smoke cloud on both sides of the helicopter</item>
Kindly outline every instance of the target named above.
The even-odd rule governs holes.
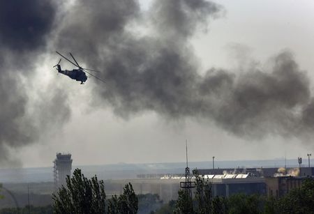
[[[54,84],[36,91],[35,63],[47,45],[73,52],[102,70],[94,102],[124,118],[156,112],[167,119],[215,123],[239,137],[304,136],[313,131],[314,99],[293,54],[274,56],[269,70],[200,74],[190,39],[223,16],[205,0],[0,0],[0,162],[70,117],[68,95]],[[210,47],[209,47],[210,48]],[[80,54],[76,54],[80,53]],[[36,89],[35,89],[36,90]]]

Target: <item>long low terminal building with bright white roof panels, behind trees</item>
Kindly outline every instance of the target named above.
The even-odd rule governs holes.
[[[197,169],[211,182],[212,195],[230,197],[232,194],[262,194],[281,197],[294,188],[301,187],[306,178],[313,178],[314,167],[301,168],[237,168]],[[106,193],[121,194],[126,183],[132,183],[136,194],[158,194],[167,202],[178,198],[184,174],[140,174],[135,179],[105,182]],[[193,177],[191,178],[193,181]]]

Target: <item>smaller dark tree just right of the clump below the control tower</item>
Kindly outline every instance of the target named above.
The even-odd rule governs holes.
[[[135,214],[138,210],[138,199],[133,190],[133,186],[128,183],[124,187],[124,193],[119,197],[114,195],[109,200],[108,213]]]

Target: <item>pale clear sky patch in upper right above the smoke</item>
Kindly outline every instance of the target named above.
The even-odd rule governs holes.
[[[239,43],[249,47],[257,61],[267,60],[282,49],[292,49],[301,68],[313,70],[312,1],[222,0],[219,3],[225,6],[225,18],[211,22],[209,33],[195,38],[195,48],[202,63],[207,64],[205,68],[230,66],[226,47],[229,43]]]

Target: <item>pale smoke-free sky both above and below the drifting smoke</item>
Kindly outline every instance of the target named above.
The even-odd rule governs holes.
[[[201,65],[199,72],[215,67],[238,74],[252,63],[263,68],[271,57],[290,49],[301,70],[306,70],[313,89],[312,1],[218,3],[225,8],[225,16],[211,20],[207,32],[199,31],[189,40]],[[91,98],[96,92],[96,80],[89,79],[80,86],[66,76],[56,75],[51,67],[59,58],[53,54],[54,47],[50,49],[42,55],[43,61],[36,64],[36,77],[29,93],[36,99],[38,89],[55,86],[65,90],[72,116],[61,130],[40,136],[38,142],[8,148],[24,167],[50,166],[57,151],[73,153],[75,165],[180,162],[184,160],[186,139],[191,161],[211,160],[213,155],[217,160],[282,158],[285,153],[287,158],[297,158],[313,151],[313,142],[301,142],[304,139],[295,136],[247,139],[223,130],[214,121],[165,118],[150,110],[123,119],[108,105],[96,107]],[[73,54],[84,63],[84,52]],[[56,108],[54,114],[58,114]]]

